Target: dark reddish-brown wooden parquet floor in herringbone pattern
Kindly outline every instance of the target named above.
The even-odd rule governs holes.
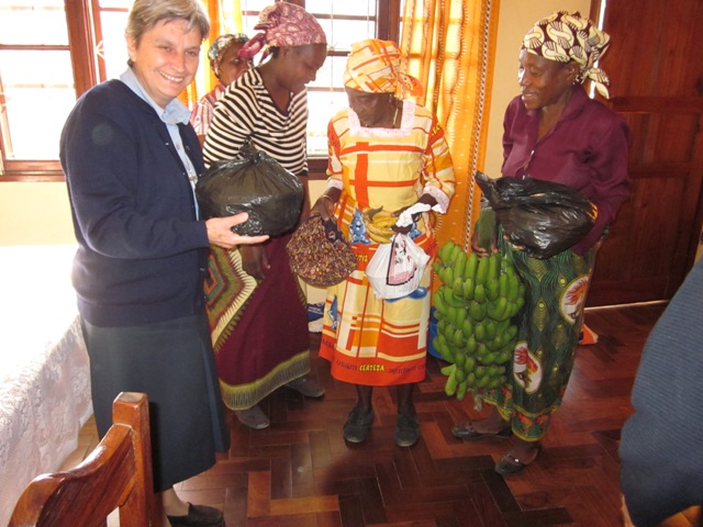
[[[645,339],[663,305],[589,310],[599,343],[578,350],[576,368],[544,451],[522,474],[493,464],[507,440],[465,442],[451,426],[483,413],[444,394],[443,366],[431,358],[415,392],[422,438],[394,444],[394,390],[376,389],[376,422],[365,444],[347,445],[342,425],[353,386],[331,378],[311,334],[321,400],[281,389],[261,406],[271,426],[252,430],[231,417],[232,448],[215,467],[179,485],[194,503],[224,509],[227,527],[536,527],[621,525],[617,445]],[[92,426],[92,428],[91,428]],[[83,428],[74,461],[97,438]],[[71,460],[68,461],[70,463]]]

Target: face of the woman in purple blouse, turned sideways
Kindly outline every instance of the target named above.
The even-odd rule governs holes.
[[[546,110],[568,100],[578,65],[546,59],[526,49],[520,52],[517,79],[527,110]]]

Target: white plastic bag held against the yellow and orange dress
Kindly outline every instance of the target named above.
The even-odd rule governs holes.
[[[379,245],[366,267],[366,276],[378,299],[400,299],[420,287],[427,261],[429,255],[399,233],[390,244]]]

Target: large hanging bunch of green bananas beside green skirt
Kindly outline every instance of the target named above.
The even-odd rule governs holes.
[[[525,303],[525,287],[511,260],[500,254],[467,256],[454,242],[438,253],[434,270],[443,285],[433,294],[437,318],[435,349],[450,362],[445,392],[462,400],[471,391],[477,406],[484,390],[505,382],[517,326],[512,318]]]

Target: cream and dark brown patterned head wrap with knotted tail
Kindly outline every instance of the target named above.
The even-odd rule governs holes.
[[[611,37],[599,30],[589,19],[582,19],[577,11],[557,11],[538,21],[523,38],[523,49],[545,57],[548,60],[568,63],[574,60],[579,66],[577,82],[588,78],[604,98],[610,98],[610,79],[605,72],[593,65],[605,53]]]

